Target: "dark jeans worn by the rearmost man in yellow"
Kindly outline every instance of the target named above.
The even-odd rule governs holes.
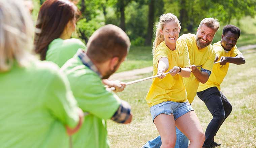
[[[203,143],[203,147],[209,148],[210,144],[214,141],[214,136],[218,132],[221,124],[231,113],[232,106],[217,87],[211,87],[199,91],[196,94],[205,103],[206,107],[213,115],[213,119],[206,128],[205,141]]]

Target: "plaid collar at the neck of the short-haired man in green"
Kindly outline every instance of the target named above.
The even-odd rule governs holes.
[[[89,69],[94,71],[97,75],[99,75],[100,78],[102,78],[102,75],[99,73],[97,67],[92,63],[91,59],[86,55],[85,51],[79,48],[77,50],[77,56],[82,61],[82,63],[87,66]]]

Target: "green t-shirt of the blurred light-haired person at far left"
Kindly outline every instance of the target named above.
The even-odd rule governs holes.
[[[68,148],[65,125],[79,121],[69,82],[52,62],[0,72],[1,148]]]

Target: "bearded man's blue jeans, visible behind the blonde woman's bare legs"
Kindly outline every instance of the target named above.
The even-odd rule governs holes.
[[[176,127],[176,144],[175,148],[188,148],[188,138]],[[162,144],[161,137],[148,141],[144,148],[160,148]]]

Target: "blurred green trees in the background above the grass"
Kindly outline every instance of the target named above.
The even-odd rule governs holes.
[[[42,4],[45,0],[33,1]],[[152,45],[155,25],[163,13],[171,12],[179,18],[180,35],[195,33],[205,17],[217,18],[222,26],[235,20],[234,25],[239,27],[242,18],[256,14],[256,0],[80,0],[77,6],[82,13],[77,33],[85,43],[99,27],[114,24],[135,46]]]

